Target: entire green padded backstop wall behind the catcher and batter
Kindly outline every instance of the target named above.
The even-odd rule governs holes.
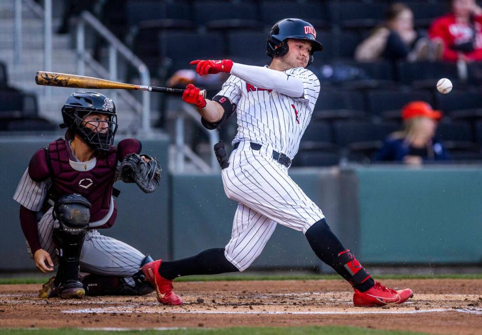
[[[33,269],[12,196],[30,157],[58,135],[0,137],[0,270]],[[121,140],[118,136],[117,140]],[[101,233],[154,258],[188,257],[229,241],[236,204],[220,174],[168,171],[168,139],[140,140],[164,170],[156,192],[117,183],[118,219]],[[482,263],[482,169],[403,166],[292,169],[292,178],[318,204],[345,246],[365,263]],[[315,267],[320,263],[301,232],[278,225],[253,267]]]

